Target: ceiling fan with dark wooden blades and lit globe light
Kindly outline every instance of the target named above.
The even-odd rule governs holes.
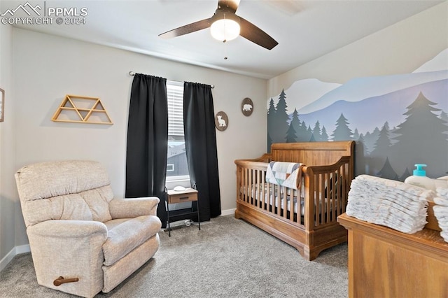
[[[210,27],[211,35],[223,42],[230,41],[237,36],[243,36],[249,41],[267,48],[267,50],[271,50],[279,44],[265,31],[236,15],[238,5],[239,0],[219,0],[218,8],[212,17],[172,29],[159,34],[159,36],[173,38]]]

